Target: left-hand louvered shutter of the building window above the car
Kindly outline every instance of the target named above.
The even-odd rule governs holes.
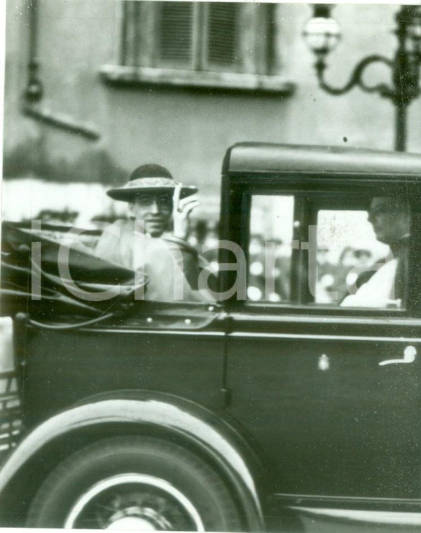
[[[191,65],[193,49],[193,4],[160,2],[158,58],[160,62]]]

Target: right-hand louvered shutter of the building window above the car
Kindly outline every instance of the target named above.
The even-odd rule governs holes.
[[[207,63],[209,66],[235,67],[238,56],[239,4],[216,3],[208,5]]]

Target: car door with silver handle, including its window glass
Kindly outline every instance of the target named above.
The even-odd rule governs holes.
[[[379,194],[290,187],[243,203],[249,276],[247,301],[230,314],[229,412],[267,454],[279,497],[420,496],[414,260],[403,299],[380,302],[386,280],[376,306],[345,304],[358,278],[394,259],[367,221]]]

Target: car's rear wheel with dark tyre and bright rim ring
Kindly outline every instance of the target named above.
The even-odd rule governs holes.
[[[200,457],[147,437],[88,445],[48,475],[28,527],[240,531],[235,501]]]

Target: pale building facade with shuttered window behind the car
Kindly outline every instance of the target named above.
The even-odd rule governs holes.
[[[365,55],[392,58],[398,8],[333,8],[343,39],[328,58],[331,83]],[[223,155],[236,142],[392,149],[391,102],[318,88],[302,36],[311,16],[308,4],[8,0],[3,217],[112,218],[124,206],[104,190],[156,162],[198,186],[202,215],[216,219]],[[408,151],[421,150],[420,115],[415,100]]]

